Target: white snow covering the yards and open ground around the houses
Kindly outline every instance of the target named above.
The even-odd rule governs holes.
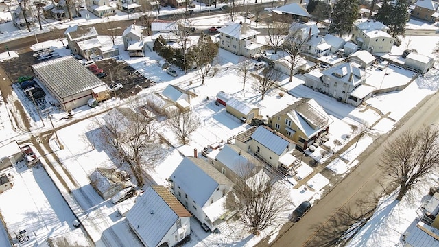
[[[200,9],[199,5],[195,10],[198,9]],[[169,14],[171,11],[173,10],[162,10],[161,14]],[[83,16],[86,16],[86,14],[83,14]],[[88,14],[88,16],[88,19],[77,19],[73,22],[65,23],[54,22],[51,23],[51,25],[67,27],[68,25],[73,25],[75,23],[91,24],[102,21],[102,19],[95,17],[93,14]],[[127,17],[126,14],[118,12],[117,16],[112,18],[126,19]],[[242,18],[238,20],[248,22],[248,20]],[[193,19],[195,27],[200,29],[210,27],[211,25],[222,25],[227,21],[226,16],[208,16]],[[0,42],[29,35],[25,30],[16,31],[11,25],[12,23],[3,23],[0,25],[0,30],[3,32],[3,34],[0,34]],[[256,25],[261,24],[252,23],[253,27]],[[49,28],[51,27],[45,27],[43,31],[39,31],[38,28],[34,27],[34,30],[30,35],[38,34],[38,32],[47,32]],[[102,38],[105,40],[105,37]],[[426,38],[428,38],[427,45],[425,45]],[[265,43],[265,37],[263,36],[259,36],[258,40],[259,42]],[[417,49],[421,54],[431,54],[438,41],[439,38],[435,36],[411,36],[406,37],[403,40],[403,45],[401,45],[401,47],[404,45],[410,46],[411,49]],[[117,40],[117,44],[121,44],[120,38]],[[62,48],[61,43],[58,40],[47,43],[38,43],[37,46],[38,48],[49,46],[58,47],[58,51],[61,55],[69,55],[69,51]],[[392,51],[392,53],[393,52],[394,51]],[[398,50],[395,51],[395,53],[398,52]],[[12,57],[19,56],[15,51],[10,51],[10,55]],[[313,99],[316,99],[316,101],[327,110],[327,113],[331,115],[332,123],[329,131],[331,134],[329,136],[329,141],[324,144],[331,146],[331,148],[333,148],[333,141],[335,139],[342,141],[343,145],[345,145],[347,141],[353,138],[350,128],[351,125],[368,124],[368,126],[372,126],[373,124],[372,129],[368,131],[368,134],[366,134],[364,138],[360,139],[358,143],[351,145],[351,147],[340,156],[341,158],[337,158],[330,163],[329,169],[335,174],[342,174],[342,176],[345,176],[351,167],[357,165],[357,156],[361,154],[370,143],[372,143],[375,135],[391,130],[395,121],[399,121],[408,110],[420,102],[426,95],[435,93],[437,90],[437,84],[434,83],[433,80],[429,80],[428,76],[425,76],[417,78],[414,83],[407,86],[403,91],[377,95],[377,97],[368,99],[367,104],[370,106],[381,110],[382,113],[390,112],[389,116],[392,118],[391,120],[388,118],[381,118],[370,108],[364,106],[354,108],[347,104],[341,104],[332,97],[313,91],[303,85],[304,79],[301,75],[296,75],[292,82],[288,82],[288,78],[285,75],[279,82],[279,84],[283,86],[283,89],[289,91],[289,94],[285,94],[281,97],[279,95],[280,91],[276,89],[270,91],[265,99],[261,100],[257,93],[252,91],[250,87],[251,82],[246,82],[246,89],[242,90],[243,85],[241,79],[237,77],[237,62],[239,62],[239,59],[234,54],[230,54],[223,50],[219,52],[219,64],[216,66],[218,72],[213,77],[207,78],[204,86],[200,85],[197,75],[192,72],[183,75],[182,71],[178,71],[180,76],[171,80],[169,75],[158,69],[156,65],[158,56],[154,53],[148,53],[145,58],[129,58],[128,54],[121,49],[121,56],[126,62],[128,62],[128,64],[131,64],[134,69],[143,73],[147,78],[151,78],[155,82],[158,82],[156,86],[150,89],[144,89],[141,94],[150,93],[152,91],[161,91],[167,86],[167,84],[176,84],[184,89],[189,89],[198,95],[197,98],[191,101],[191,104],[195,109],[195,112],[198,114],[198,117],[200,117],[202,126],[200,126],[195,133],[191,134],[188,145],[179,145],[175,141],[173,134],[166,131],[165,128],[159,130],[161,134],[177,148],[169,148],[166,158],[161,163],[158,163],[156,167],[147,170],[148,174],[154,179],[154,183],[157,183],[158,185],[167,185],[166,178],[169,178],[169,175],[182,160],[180,153],[192,156],[194,148],[202,150],[202,148],[211,143],[221,141],[224,143],[224,141],[232,137],[234,134],[244,131],[249,127],[245,124],[241,124],[241,122],[235,119],[235,117],[226,113],[224,108],[213,104],[213,100],[218,91],[225,91],[241,101],[258,106],[261,110],[261,115],[270,115],[288,104],[291,104],[297,97],[312,97]],[[0,60],[8,58],[10,57],[7,53],[0,54]],[[392,73],[389,73],[389,75],[381,75],[378,71],[370,71],[370,73],[372,73],[372,76],[381,76],[381,78],[383,78],[381,79],[380,84],[401,82],[401,80],[407,80],[412,76],[411,72],[400,71],[399,69],[392,69]],[[379,81],[379,79],[380,78],[376,81]],[[189,82],[193,82],[193,84]],[[32,104],[27,102],[26,99],[23,99],[21,95],[17,95],[13,92],[12,97],[20,99],[23,104],[27,104],[25,108],[33,108]],[[207,99],[207,97],[209,97],[209,99]],[[409,98],[410,100],[407,100]],[[105,110],[106,107],[123,104],[123,102],[114,99],[105,104],[106,105],[104,106],[99,106],[93,109],[88,108],[88,106],[77,108],[74,110],[75,118],[86,117],[99,110]],[[11,106],[8,107],[12,108]],[[11,114],[10,111],[6,109],[3,102],[0,102],[0,142],[7,142],[10,139],[27,139],[29,137],[28,135],[23,136],[16,132],[17,130],[12,126],[8,114]],[[54,114],[55,126],[62,126],[70,121],[68,119],[61,119],[64,115],[65,113]],[[32,119],[38,118],[32,117]],[[51,128],[47,119],[43,119],[43,121],[46,123],[45,126],[43,126],[40,121],[32,123],[32,126],[34,126],[32,132],[40,132]],[[71,194],[63,189],[58,191],[54,183],[52,183],[47,174],[45,174],[44,169],[25,169],[25,166],[16,169],[14,167],[14,169],[16,169],[12,172],[14,176],[14,187],[0,195],[0,209],[10,234],[12,234],[13,231],[17,232],[25,228],[29,235],[32,231],[35,232],[36,237],[32,237],[32,241],[41,242],[47,237],[53,237],[67,231],[72,231],[73,228],[71,222],[75,219],[75,215],[73,215],[71,210],[67,207],[68,203],[73,212],[75,212],[80,218],[82,224],[86,226],[88,234],[91,235],[92,239],[98,239],[96,241],[98,246],[104,246],[108,243],[110,243],[110,246],[118,246],[120,242],[123,242],[127,246],[137,246],[139,244],[137,238],[130,233],[126,221],[124,221],[123,217],[120,217],[117,213],[117,207],[108,201],[104,201],[99,195],[97,195],[88,180],[88,175],[90,175],[96,167],[115,167],[118,165],[113,163],[112,157],[102,148],[102,145],[99,145],[99,139],[97,138],[99,131],[95,129],[96,127],[93,125],[93,121],[93,118],[87,119],[80,121],[78,124],[73,124],[69,127],[58,130],[60,141],[65,147],[64,150],[59,150],[58,144],[54,139],[51,139],[50,142],[51,147],[56,150],[56,155],[62,163],[62,165],[60,165],[52,156],[48,156],[49,161],[54,165],[54,170],[61,172],[65,169],[72,174],[73,179],[64,177],[64,180],[67,181],[67,186],[73,191]],[[87,141],[84,139],[84,137],[91,138],[91,136],[96,140],[95,149],[88,146]],[[349,136],[349,138],[347,138],[347,136]],[[339,150],[342,146],[337,146],[333,148],[333,150]],[[318,152],[313,156],[316,156],[316,159],[320,161],[325,161],[329,158],[329,156],[318,156]],[[303,174],[309,173],[309,171],[305,171],[305,169],[302,172]],[[50,175],[54,176],[54,174]],[[291,213],[294,207],[300,204],[303,200],[313,201],[320,198],[320,195],[323,192],[322,190],[327,185],[329,185],[329,180],[322,176],[322,174],[315,174],[312,177],[307,178],[306,185],[302,185],[297,189],[285,185],[290,189],[289,200],[292,202],[292,207],[289,213]],[[59,187],[60,185],[57,186]],[[65,201],[62,199],[61,195],[64,196]],[[388,202],[389,204],[383,203],[382,205],[387,206],[383,206],[383,209],[381,210],[380,208],[377,212],[389,215],[388,213],[392,210],[388,209],[394,208],[391,200],[391,198],[383,198],[383,202]],[[17,203],[10,204],[10,202],[23,203],[19,204],[20,207],[11,207],[10,205],[16,205]],[[134,199],[127,200],[121,204],[121,207],[130,208],[133,203]],[[401,204],[398,207],[406,206],[406,204]],[[407,212],[409,210],[412,210],[412,208],[407,206]],[[405,211],[394,217],[401,217],[401,215],[404,214]],[[407,213],[407,215],[412,214]],[[246,231],[246,227],[244,227],[239,221],[229,222],[228,228],[225,228],[222,233],[209,234],[202,230],[200,224],[195,219],[192,219],[191,227],[193,235],[191,241],[187,242],[185,246],[253,246],[262,237],[268,235],[275,237],[281,223],[285,223],[287,220],[288,218],[284,217],[283,221],[281,221],[278,226],[270,227],[261,233],[260,236],[255,237],[250,235],[250,233]],[[405,222],[405,220],[401,220],[401,222],[402,221]],[[368,244],[367,242],[366,246],[388,246],[388,243],[397,243],[397,234],[390,234],[390,232],[393,231],[393,229],[390,228],[390,223],[389,226],[382,226],[381,224],[374,222],[371,222],[371,224],[374,225],[365,228],[368,232],[358,235],[361,239],[357,241],[355,239],[353,240],[352,243],[354,246],[363,246],[363,244],[366,243],[366,238],[370,238],[373,241],[370,242],[371,244]],[[401,228],[402,227],[403,226],[401,226]],[[1,228],[4,230],[3,227]],[[4,231],[1,232],[4,235]],[[398,232],[401,233],[401,231]],[[380,233],[392,240],[370,237],[371,235],[374,235],[373,233]],[[4,237],[0,237],[0,239],[0,246],[8,246],[7,239]],[[31,246],[30,244],[31,243],[26,246]]]

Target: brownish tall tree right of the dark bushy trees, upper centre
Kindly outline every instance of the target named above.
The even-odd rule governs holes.
[[[204,79],[211,70],[218,51],[219,47],[204,32],[201,32],[197,45],[191,47],[191,61],[197,67],[196,73],[200,76],[202,85],[204,85]]]

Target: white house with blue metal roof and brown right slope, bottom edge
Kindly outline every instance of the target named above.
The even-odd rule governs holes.
[[[145,246],[175,246],[191,234],[191,213],[164,186],[136,198],[126,220]]]

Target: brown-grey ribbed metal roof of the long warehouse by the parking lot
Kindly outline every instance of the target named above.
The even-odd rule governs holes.
[[[105,84],[72,56],[34,64],[32,69],[38,78],[60,98],[69,97]]]

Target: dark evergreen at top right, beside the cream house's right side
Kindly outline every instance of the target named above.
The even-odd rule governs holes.
[[[405,33],[405,24],[409,21],[407,0],[385,0],[375,15],[377,21],[381,21],[389,27],[389,34],[394,38]]]

